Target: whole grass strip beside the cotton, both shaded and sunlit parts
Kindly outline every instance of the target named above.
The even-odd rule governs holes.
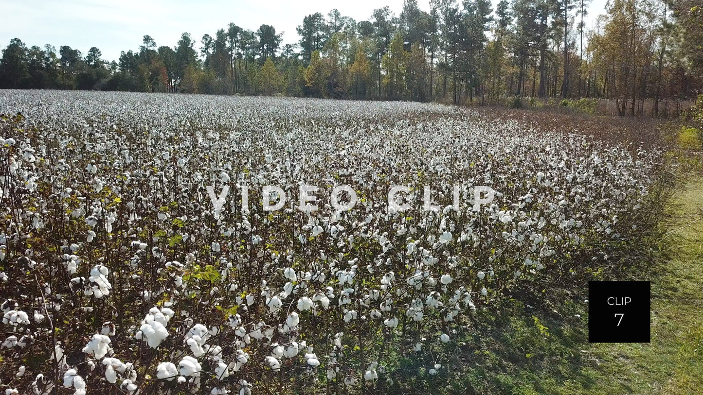
[[[652,261],[621,274],[652,281],[650,343],[589,344],[587,290],[553,289],[527,300],[520,295],[522,302],[509,300],[462,330],[458,342],[465,344],[444,354],[451,355],[448,371],[428,377],[423,363],[406,361],[406,377],[395,377],[386,392],[702,394],[703,218],[697,220],[702,216],[698,181],[669,204],[667,233]]]

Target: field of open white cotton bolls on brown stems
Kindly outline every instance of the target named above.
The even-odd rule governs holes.
[[[6,394],[441,373],[512,288],[609,265],[662,156],[409,102],[1,91],[0,114]]]

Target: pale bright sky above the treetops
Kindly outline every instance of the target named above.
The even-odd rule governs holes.
[[[586,27],[604,12],[606,1],[591,1]],[[495,8],[498,0],[493,3]],[[430,0],[418,0],[424,11],[430,10],[429,4]],[[373,10],[382,6],[399,15],[403,0],[1,0],[0,48],[15,37],[27,46],[50,43],[58,51],[59,46],[67,45],[83,54],[96,46],[109,61],[120,58],[120,51],[138,51],[145,34],[152,36],[157,46],[173,47],[181,33],[188,32],[199,47],[203,34],[214,36],[229,22],[250,30],[264,23],[273,25],[276,32],[284,32],[283,43],[296,43],[295,27],[302,24],[305,15],[327,15],[337,8],[359,22],[368,20]]]

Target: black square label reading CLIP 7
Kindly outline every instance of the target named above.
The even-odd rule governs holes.
[[[650,342],[649,281],[588,281],[588,342]]]

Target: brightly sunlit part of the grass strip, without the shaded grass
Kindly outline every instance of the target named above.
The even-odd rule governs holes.
[[[702,215],[703,182],[688,185],[669,206],[669,232],[658,245],[668,259],[648,274],[652,342],[582,344],[588,358],[575,372],[556,377],[547,370],[534,375],[539,384],[514,393],[703,393]]]

